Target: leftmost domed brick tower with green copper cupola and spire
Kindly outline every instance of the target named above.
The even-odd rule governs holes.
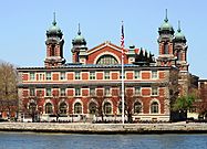
[[[45,67],[61,66],[65,63],[63,57],[63,33],[56,25],[55,13],[52,25],[46,31],[46,57],[44,61]]]

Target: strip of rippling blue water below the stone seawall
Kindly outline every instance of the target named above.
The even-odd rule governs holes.
[[[207,149],[207,135],[0,132],[0,149]]]

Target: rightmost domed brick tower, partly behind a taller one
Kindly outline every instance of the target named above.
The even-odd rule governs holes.
[[[178,30],[174,38],[174,51],[177,56],[176,65],[180,71],[188,71],[187,64],[187,40],[180,30],[180,22],[178,21]]]

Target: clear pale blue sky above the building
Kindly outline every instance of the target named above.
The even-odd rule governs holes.
[[[56,13],[64,34],[64,57],[72,61],[72,40],[81,24],[92,49],[105,41],[120,45],[124,21],[125,46],[144,47],[158,55],[158,28],[168,20],[188,44],[189,72],[207,78],[207,1],[205,0],[4,0],[0,3],[0,60],[17,66],[43,66],[45,32]]]

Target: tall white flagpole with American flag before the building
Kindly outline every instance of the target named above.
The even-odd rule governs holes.
[[[121,39],[121,47],[122,47],[122,124],[124,124],[124,23],[122,21],[122,39]]]

